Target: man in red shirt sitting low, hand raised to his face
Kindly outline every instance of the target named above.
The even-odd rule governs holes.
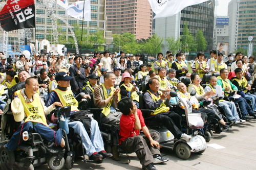
[[[127,152],[135,152],[143,169],[156,170],[153,163],[167,162],[169,159],[162,158],[159,151],[158,133],[148,131],[142,112],[137,109],[132,98],[121,99],[118,109],[123,113],[119,124],[121,148]],[[143,136],[140,135],[141,129],[145,134]]]

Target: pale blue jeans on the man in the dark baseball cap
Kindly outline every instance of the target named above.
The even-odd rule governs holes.
[[[100,152],[104,150],[103,139],[101,137],[98,122],[96,120],[91,121],[91,139],[84,128],[83,124],[79,121],[69,122],[69,127],[75,130],[82,137],[83,147],[86,149],[86,154],[91,156],[94,152]]]

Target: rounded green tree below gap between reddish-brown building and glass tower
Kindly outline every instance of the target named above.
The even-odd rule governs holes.
[[[144,51],[148,55],[156,56],[158,53],[161,52],[163,45],[163,38],[154,34],[152,37],[148,38],[148,41],[144,45]]]

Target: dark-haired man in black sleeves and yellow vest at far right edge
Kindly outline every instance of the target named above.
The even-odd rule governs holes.
[[[242,97],[246,100],[251,101],[252,107],[254,112],[256,111],[256,95],[248,93],[249,90],[251,90],[251,85],[248,84],[246,78],[243,76],[243,70],[242,68],[236,68],[234,69],[234,74],[236,74],[236,77],[232,78],[231,81],[233,85],[237,86],[238,88],[238,94],[242,95]],[[243,94],[243,92],[245,94]],[[255,114],[252,114],[254,118],[256,118]]]

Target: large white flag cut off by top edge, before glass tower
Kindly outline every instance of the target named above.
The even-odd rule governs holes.
[[[200,4],[209,0],[148,0],[150,6],[155,12],[156,18],[173,16],[183,10],[185,7]]]

